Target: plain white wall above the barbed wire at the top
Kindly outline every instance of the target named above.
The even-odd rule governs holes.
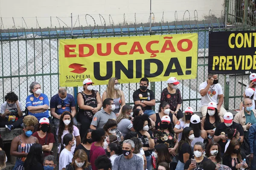
[[[113,18],[114,25],[122,24],[124,13],[125,23],[135,22],[134,13],[136,13],[137,23],[148,23],[149,2],[150,0],[0,0],[0,17],[5,28],[14,28],[12,17],[14,17],[16,28],[38,28],[39,26],[47,28],[51,24],[52,27],[59,27],[58,22],[61,27],[71,27],[70,13],[74,16],[73,25],[77,16],[80,15],[80,25],[87,26],[85,14],[90,14],[99,26],[101,26],[99,14],[105,18],[106,25],[110,25],[109,14]],[[161,21],[163,11],[164,22],[172,22],[175,20],[175,11],[177,11],[177,19],[183,20],[186,10],[190,13],[190,20],[195,20],[195,17],[203,20],[204,16],[209,15],[209,10],[216,17],[221,17],[221,13],[224,15],[224,0],[152,0],[152,12],[155,14],[154,19],[157,23]],[[198,14],[194,17],[195,10]],[[189,13],[186,12],[185,20],[189,19]],[[39,26],[35,17],[38,17]],[[87,22],[94,26],[90,17]],[[77,26],[79,26],[78,21],[75,27]]]

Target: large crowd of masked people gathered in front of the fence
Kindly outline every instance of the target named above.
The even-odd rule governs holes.
[[[41,85],[32,82],[24,115],[17,95],[6,94],[0,127],[7,132],[23,128],[11,144],[10,155],[17,157],[14,170],[256,169],[256,74],[250,75],[234,118],[222,106],[222,87],[214,72],[199,86],[202,119],[190,106],[181,111],[179,83],[175,77],[167,80],[158,113],[152,109],[155,96],[145,77],[134,91],[133,107],[125,104],[116,78],[109,80],[102,98],[93,81],[85,79],[77,95],[78,110],[65,88],[49,102]],[[58,153],[52,152],[54,144]],[[7,157],[1,148],[0,143],[3,169]]]

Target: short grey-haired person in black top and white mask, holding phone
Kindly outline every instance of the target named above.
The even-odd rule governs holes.
[[[196,142],[194,146],[194,155],[191,159],[195,159],[195,163],[192,163],[191,159],[186,161],[184,170],[203,170],[204,162],[210,161],[203,156],[205,144],[202,142]]]

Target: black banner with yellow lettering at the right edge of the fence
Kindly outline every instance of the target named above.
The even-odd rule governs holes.
[[[209,32],[208,71],[256,72],[256,31]]]

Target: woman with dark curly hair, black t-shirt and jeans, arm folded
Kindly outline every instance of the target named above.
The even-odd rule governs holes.
[[[153,133],[149,130],[151,126],[151,122],[147,115],[136,116],[133,120],[134,130],[138,133],[139,139],[143,144],[142,149],[145,152],[145,156],[147,159],[147,168],[148,170],[152,170],[152,158],[151,154],[154,149],[154,139]]]

